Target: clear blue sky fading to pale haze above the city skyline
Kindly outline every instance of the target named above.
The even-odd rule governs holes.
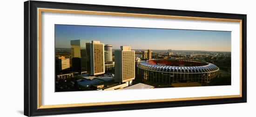
[[[55,25],[55,47],[70,48],[70,40],[98,40],[120,49],[231,51],[231,32],[108,26]]]

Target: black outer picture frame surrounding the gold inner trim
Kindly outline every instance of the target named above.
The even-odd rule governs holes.
[[[139,13],[154,15],[186,16],[200,18],[242,20],[242,97],[184,100],[156,103],[111,104],[99,106],[81,106],[65,108],[38,109],[38,51],[37,51],[37,8],[70,9],[100,12]],[[209,104],[245,103],[247,101],[247,52],[246,52],[246,14],[211,13],[183,10],[153,9],[139,7],[119,7],[47,1],[24,2],[24,115],[40,116],[81,112],[138,110]]]

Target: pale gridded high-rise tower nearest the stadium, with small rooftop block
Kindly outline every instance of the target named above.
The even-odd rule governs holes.
[[[132,83],[135,79],[135,51],[130,46],[121,46],[115,51],[115,81]]]

